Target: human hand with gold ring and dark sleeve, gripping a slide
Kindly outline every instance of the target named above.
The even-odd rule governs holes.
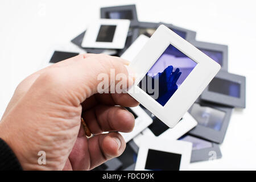
[[[97,93],[100,73],[124,73],[123,85],[133,84],[127,61],[119,57],[85,54],[72,57],[27,77],[16,88],[0,122],[6,141],[23,169],[88,170],[122,154],[134,117],[123,107],[136,106],[126,93]],[[113,84],[113,83],[110,83]],[[110,85],[109,84],[109,85]],[[125,89],[125,87],[124,87]],[[120,106],[116,106],[120,105]],[[81,115],[94,135],[87,138]],[[38,152],[46,152],[46,165]]]

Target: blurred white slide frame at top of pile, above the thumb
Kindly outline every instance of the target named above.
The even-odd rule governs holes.
[[[115,28],[113,42],[96,42],[101,25],[114,25]],[[99,19],[88,27],[82,40],[82,47],[85,48],[110,48],[122,49],[129,31],[130,20],[127,19]]]

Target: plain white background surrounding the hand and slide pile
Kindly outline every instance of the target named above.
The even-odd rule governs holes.
[[[0,117],[15,87],[35,72],[52,44],[68,43],[100,7],[136,3],[138,19],[197,32],[197,40],[229,46],[229,72],[246,76],[246,109],[232,115],[222,159],[190,169],[256,169],[255,1],[11,1],[0,2]]]

